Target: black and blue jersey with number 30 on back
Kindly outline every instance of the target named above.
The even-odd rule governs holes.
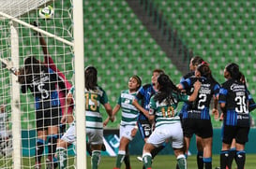
[[[249,126],[248,90],[243,82],[234,79],[224,82],[219,91],[218,103],[225,103],[225,125]]]

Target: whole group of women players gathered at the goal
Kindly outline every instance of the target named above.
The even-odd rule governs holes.
[[[38,38],[45,56],[43,63],[32,56],[24,60],[24,66],[19,70],[10,67],[8,63],[6,66],[18,76],[22,92],[29,90],[35,97],[38,132],[35,168],[41,168],[47,142],[47,167],[66,168],[67,148],[76,140],[76,123],[72,117],[74,88],[53,63],[43,37],[38,34]],[[143,161],[143,168],[151,169],[152,160],[166,144],[173,147],[177,159],[176,168],[188,168],[190,138],[195,134],[198,168],[211,169],[213,127],[210,113],[223,120],[220,168],[231,168],[234,159],[237,168],[244,169],[249,111],[256,107],[248,92],[245,77],[236,63],[228,63],[224,69],[226,81],[219,84],[212,76],[209,63],[199,56],[191,58],[189,68],[190,72],[181,78],[179,84],[173,84],[170,78],[172,75],[169,77],[161,69],[153,70],[152,81],[143,86],[139,76],[131,76],[128,90],[120,92],[114,108],[110,106],[106,92],[98,86],[97,68],[92,65],[85,68],[86,135],[93,169],[98,168],[100,161],[103,127],[109,120],[114,120],[120,109],[121,141],[114,169],[121,168],[122,162],[126,163],[127,169],[131,168],[128,143],[137,131],[145,143],[143,156],[138,157]],[[213,107],[210,107],[211,100]],[[184,102],[181,110],[176,109],[179,102]],[[99,112],[100,105],[105,107],[109,115],[104,122]],[[62,129],[67,123],[70,125],[64,134],[65,130]],[[61,129],[59,126],[62,126]]]

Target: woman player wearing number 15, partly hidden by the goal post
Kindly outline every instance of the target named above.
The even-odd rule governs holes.
[[[106,92],[98,86],[98,71],[94,66],[87,66],[84,71],[84,96],[85,96],[85,111],[86,111],[86,135],[89,139],[89,144],[92,149],[92,169],[98,168],[100,161],[100,150],[103,144],[103,122],[102,115],[99,112],[100,104],[103,105],[108,113],[110,120],[113,121],[113,109],[108,102]],[[74,88],[71,88],[68,93],[68,103],[74,94]],[[75,125],[70,125],[66,134],[64,134],[57,145],[57,156],[60,162],[61,169],[67,167],[67,148],[68,145],[76,141]],[[84,143],[85,144],[85,143]]]

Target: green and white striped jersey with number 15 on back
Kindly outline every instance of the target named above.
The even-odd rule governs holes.
[[[69,91],[74,94],[74,88],[72,87]],[[106,92],[101,88],[97,87],[95,91],[84,90],[85,97],[85,115],[86,115],[86,128],[87,129],[103,129],[102,115],[99,112],[101,105],[107,104],[108,96]]]

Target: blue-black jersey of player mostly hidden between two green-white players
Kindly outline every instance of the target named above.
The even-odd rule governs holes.
[[[138,102],[141,102],[141,106],[143,106],[145,110],[149,111],[150,98],[155,93],[156,91],[154,90],[152,84],[143,85],[136,94],[136,100]],[[138,119],[147,120],[147,118],[143,115],[142,112],[140,113]]]

